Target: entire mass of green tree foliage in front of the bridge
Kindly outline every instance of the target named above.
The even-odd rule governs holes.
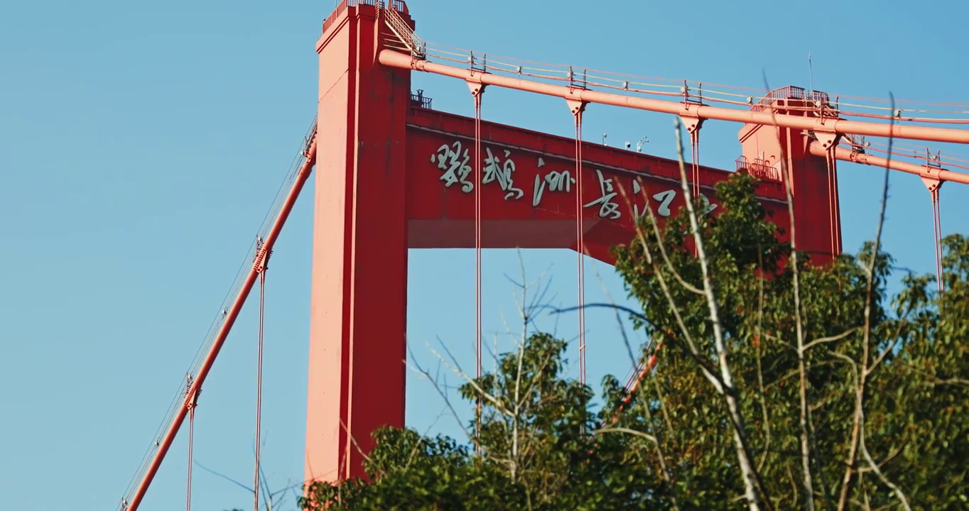
[[[724,211],[700,225],[710,294],[685,209],[662,229],[644,218],[614,249],[641,304],[636,325],[653,339],[643,357],[659,360],[635,391],[608,376],[593,411],[591,388],[563,374],[567,344],[531,334],[460,389],[483,399],[482,456],[384,429],[368,481],[314,483],[302,508],[969,505],[969,238],[944,240],[945,292],[906,274],[890,296],[893,261],[874,243],[795,265],[755,188],[739,174],[719,184]]]

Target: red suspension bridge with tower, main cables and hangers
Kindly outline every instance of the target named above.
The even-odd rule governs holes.
[[[797,247],[819,264],[842,252],[839,163],[917,175],[932,205],[939,271],[940,187],[969,184],[969,158],[932,151],[924,143],[969,143],[964,105],[892,105],[797,86],[767,91],[619,75],[436,45],[423,41],[414,27],[400,0],[344,0],[324,21],[316,45],[317,116],[300,162],[118,509],[134,511],[152,497],[152,482],[164,464],[173,463],[172,443],[183,435],[191,507],[196,405],[205,381],[218,377],[213,366],[247,300],[258,302],[260,317],[259,437],[266,275],[273,247],[311,176],[316,186],[306,480],[361,475],[370,432],[404,424],[409,249],[475,249],[476,321],[468,328],[474,328],[469,335],[475,337],[477,375],[484,351],[482,250],[575,251],[580,307],[586,257],[611,262],[610,246],[633,237],[635,218],[645,208],[663,219],[695,198],[701,214],[718,214],[714,186],[735,172],[759,178],[758,196],[782,235],[794,227]],[[454,87],[467,90],[474,116],[435,109],[428,95],[412,87],[416,74],[452,77]],[[561,99],[575,136],[484,121],[488,91],[495,88]],[[676,161],[584,141],[583,116],[596,105],[677,116],[689,134],[688,191],[680,186]],[[701,164],[703,127],[716,122],[739,125],[737,158],[719,165],[726,168]],[[795,225],[787,214],[789,192]],[[579,309],[582,381],[584,321]],[[379,403],[375,396],[381,396]],[[253,484],[258,489],[260,479]]]

